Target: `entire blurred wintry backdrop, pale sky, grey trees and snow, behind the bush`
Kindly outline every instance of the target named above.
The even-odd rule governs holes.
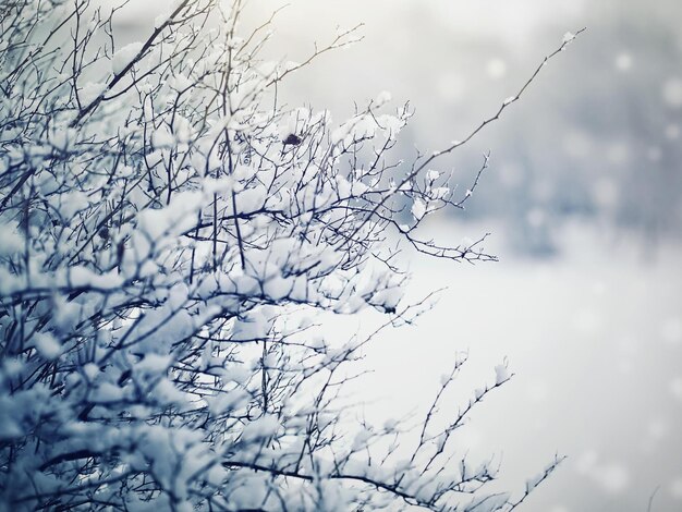
[[[283,2],[253,1],[263,20]],[[121,42],[165,2],[132,0]],[[682,3],[679,0],[293,0],[272,57],[304,61],[337,26],[364,40],[321,57],[280,90],[337,121],[383,89],[416,113],[405,160],[466,136],[517,92],[564,33],[586,26],[521,101],[442,162],[466,211],[427,227],[442,243],[491,232],[476,266],[406,255],[411,296],[448,287],[431,312],[367,351],[358,389],[377,420],[419,413],[458,352],[461,389],[515,377],[460,437],[522,488],[568,455],[528,511],[682,510]],[[369,321],[360,319],[358,321]],[[358,326],[362,328],[362,326]],[[330,329],[331,330],[331,329]]]

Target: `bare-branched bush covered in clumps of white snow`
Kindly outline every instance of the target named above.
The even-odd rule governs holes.
[[[483,239],[416,232],[471,196],[478,180],[458,199],[433,169],[462,143],[392,160],[411,111],[386,94],[337,124],[282,108],[278,84],[309,61],[260,59],[269,23],[241,34],[242,3],[169,2],[127,46],[87,1],[0,7],[1,502],[511,510],[556,461],[512,499],[451,448],[506,367],[435,422],[458,361],[406,447],[409,425],[358,424],[339,400],[372,337],[328,343],[316,322],[410,320],[399,239],[494,259]]]

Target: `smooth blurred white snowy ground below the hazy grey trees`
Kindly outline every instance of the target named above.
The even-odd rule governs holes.
[[[413,296],[449,289],[417,326],[367,351],[367,416],[422,411],[459,351],[470,354],[462,392],[494,381],[508,357],[514,378],[459,439],[501,458],[516,488],[568,455],[524,510],[645,511],[651,496],[651,511],[682,510],[682,247],[654,252],[594,231],[567,231],[563,256],[549,260],[509,256],[499,235],[497,264],[415,259]]]

